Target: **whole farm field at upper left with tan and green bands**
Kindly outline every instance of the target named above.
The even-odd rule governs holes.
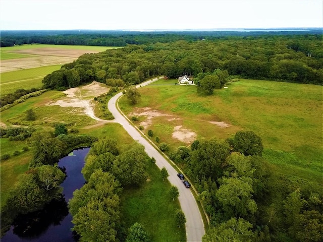
[[[19,88],[39,88],[44,76],[75,61],[80,55],[112,48],[118,47],[49,44],[2,47],[0,95],[13,93]]]

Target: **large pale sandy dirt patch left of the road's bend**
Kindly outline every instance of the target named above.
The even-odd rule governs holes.
[[[91,84],[84,87],[75,87],[64,91],[64,93],[67,94],[66,97],[63,97],[56,102],[49,102],[47,103],[47,105],[80,108],[80,110],[82,110],[81,113],[85,113],[86,115],[100,122],[108,123],[112,121],[104,120],[94,115],[93,103],[91,101],[92,99],[89,99],[89,97],[92,97],[94,94],[96,96],[99,96],[101,94],[107,93],[109,90],[109,88],[101,87],[98,82],[92,82]],[[78,109],[75,109],[76,112],[77,110]]]

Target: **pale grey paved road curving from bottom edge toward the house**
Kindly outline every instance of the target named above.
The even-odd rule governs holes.
[[[155,78],[144,83],[141,83],[138,87],[146,86],[160,78]],[[156,159],[156,165],[159,169],[165,167],[169,173],[168,180],[170,183],[178,188],[179,191],[179,201],[182,208],[182,211],[186,217],[186,238],[187,241],[202,241],[202,236],[204,235],[204,224],[200,214],[200,211],[197,206],[197,202],[192,194],[191,189],[185,188],[182,180],[177,177],[177,171],[173,168],[173,166],[146,140],[144,139],[139,131],[137,131],[133,126],[131,126],[128,120],[123,116],[117,109],[116,104],[118,98],[123,94],[118,93],[114,97],[112,97],[107,104],[109,110],[115,117],[115,122],[121,124],[124,129],[129,133],[129,135],[140,144],[145,147],[146,153],[150,157],[154,157]]]

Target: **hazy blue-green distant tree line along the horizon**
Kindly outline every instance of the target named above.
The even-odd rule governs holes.
[[[94,45],[94,46],[125,46],[127,44],[169,43],[178,40],[196,41],[213,40],[228,36],[261,36],[261,35],[295,35],[322,33],[320,28],[290,29],[288,32],[261,30],[252,31],[90,31],[90,30],[42,30],[42,31],[1,31],[0,46],[20,44],[62,44],[62,45]]]

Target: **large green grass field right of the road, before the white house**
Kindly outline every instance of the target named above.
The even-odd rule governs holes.
[[[169,85],[167,85],[167,82]],[[200,96],[195,86],[174,85],[176,80],[161,80],[140,89],[136,107],[151,107],[180,118],[154,118],[154,136],[171,144],[185,145],[172,138],[172,128],[182,125],[197,134],[197,139],[226,139],[239,130],[252,130],[262,138],[264,157],[281,172],[322,179],[322,87],[307,84],[245,80],[228,89]],[[121,109],[133,110],[125,98]],[[225,122],[221,128],[208,121]]]

